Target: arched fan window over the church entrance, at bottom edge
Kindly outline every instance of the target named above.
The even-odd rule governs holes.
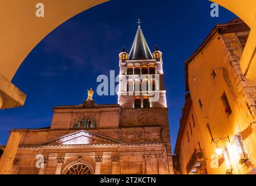
[[[62,174],[94,174],[94,168],[84,160],[76,160],[67,164]]]

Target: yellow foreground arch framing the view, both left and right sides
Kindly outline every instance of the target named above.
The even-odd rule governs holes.
[[[22,64],[23,60],[29,55],[29,53],[33,50],[33,48],[46,36],[48,35],[52,30],[54,30],[56,27],[58,27],[60,24],[66,22],[66,20],[69,20],[71,17],[78,15],[79,13],[83,12],[84,10],[87,10],[93,6],[96,6],[100,3],[106,2],[108,0],[77,0],[76,3],[74,3],[73,0],[66,0],[62,1],[61,4],[57,4],[56,1],[51,0],[45,0],[45,6],[48,8],[48,15],[58,12],[58,16],[52,16],[50,15],[51,19],[44,20],[41,19],[38,21],[37,17],[31,16],[31,11],[34,11],[34,2],[33,1],[19,1],[15,2],[16,5],[13,6],[13,1],[6,1],[5,6],[0,7],[0,13],[6,13],[6,6],[9,9],[9,12],[12,14],[13,12],[16,12],[17,15],[23,15],[23,16],[16,16],[13,18],[12,15],[7,16],[0,16],[2,17],[2,25],[5,25],[5,30],[3,32],[8,32],[9,30],[12,30],[12,37],[16,37],[16,40],[12,40],[10,42],[9,38],[7,37],[1,37],[1,44],[4,45],[5,51],[2,51],[1,53],[1,60],[0,60],[0,77],[4,77],[9,85],[12,85],[13,91],[15,92],[15,96],[18,96],[19,99],[16,99],[13,95],[8,95],[9,97],[4,98],[6,100],[6,104],[8,106],[2,105],[2,108],[13,108],[17,106],[23,106],[26,95],[21,92],[17,91],[17,88],[15,85],[13,85],[11,82],[13,76],[15,76],[15,73],[17,69],[19,69],[19,66]],[[255,22],[255,1],[254,0],[247,0],[247,3],[244,3],[244,1],[241,0],[209,0],[212,2],[216,2],[219,5],[225,7],[226,9],[230,10],[231,12],[235,13],[237,16],[239,16],[241,19],[244,20],[248,24],[248,26],[255,30],[254,22]],[[28,8],[30,13],[24,14],[23,10],[24,8]],[[65,7],[69,7],[69,9],[66,9]],[[23,21],[20,21],[23,20]],[[24,21],[25,20],[25,21]],[[10,24],[12,23],[12,24]],[[15,29],[14,27],[19,27],[19,29]],[[24,32],[23,34],[20,34],[20,30],[23,30],[23,28],[29,28],[30,32]],[[40,28],[40,29],[38,29]],[[33,33],[33,34],[31,34]],[[5,34],[3,34],[5,35]],[[31,37],[33,35],[33,37]],[[20,44],[22,44],[22,47],[20,47]],[[17,53],[18,55],[9,55],[9,53]],[[246,66],[245,64],[244,66]],[[243,69],[243,65],[242,65]],[[3,80],[0,80],[3,81]],[[8,86],[9,86],[8,85]],[[12,102],[10,100],[14,100],[15,102]],[[0,108],[1,109],[1,108]]]

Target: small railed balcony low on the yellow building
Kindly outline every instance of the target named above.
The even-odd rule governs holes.
[[[203,149],[195,149],[193,155],[191,156],[189,163],[187,164],[187,174],[190,174],[191,171],[194,169],[200,168],[201,163],[205,162],[205,157],[204,157],[204,150]]]

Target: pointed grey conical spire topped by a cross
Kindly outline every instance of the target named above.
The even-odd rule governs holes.
[[[150,48],[140,28],[140,23],[140,19],[138,19],[138,30],[129,53],[129,60],[153,59]]]

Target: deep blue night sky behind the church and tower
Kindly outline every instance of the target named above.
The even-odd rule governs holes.
[[[140,17],[151,52],[163,52],[163,70],[169,107],[170,139],[174,149],[184,104],[184,62],[217,23],[236,16],[219,9],[211,17],[207,0],[112,0],[63,23],[33,49],[12,83],[27,94],[24,107],[0,110],[0,144],[13,128],[51,125],[52,108],[79,105],[87,89],[97,89],[97,77],[119,73],[118,54],[130,51]],[[47,8],[45,8],[47,14]],[[15,55],[15,54],[13,54]],[[98,104],[117,103],[117,96],[97,96]]]

